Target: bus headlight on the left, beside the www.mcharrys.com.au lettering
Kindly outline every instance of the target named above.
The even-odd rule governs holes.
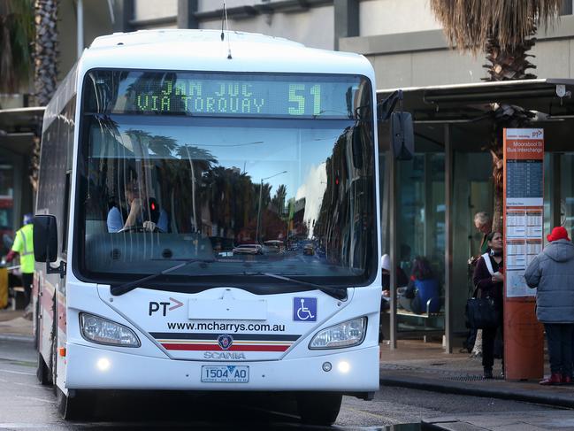
[[[140,339],[129,327],[87,312],[80,313],[80,330],[86,340],[98,344],[123,347],[142,345]]]

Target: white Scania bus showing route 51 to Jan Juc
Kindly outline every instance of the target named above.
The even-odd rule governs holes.
[[[325,424],[379,389],[371,64],[220,36],[99,37],[46,109],[38,378],[65,418],[103,389],[279,391]]]

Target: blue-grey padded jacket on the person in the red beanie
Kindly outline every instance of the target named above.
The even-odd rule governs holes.
[[[536,291],[536,317],[543,323],[574,323],[574,244],[550,242],[524,273]]]

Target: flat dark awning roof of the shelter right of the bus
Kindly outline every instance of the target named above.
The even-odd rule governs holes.
[[[377,90],[380,102],[396,89]],[[536,79],[478,82],[402,89],[403,109],[413,115],[415,132],[427,142],[439,144],[452,126],[453,145],[480,150],[490,139],[493,104],[517,105],[534,117],[530,127],[545,129],[547,150],[573,150],[574,80]]]

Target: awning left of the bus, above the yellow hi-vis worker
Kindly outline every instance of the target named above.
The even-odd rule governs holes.
[[[42,130],[43,114],[43,106],[0,110],[0,148],[31,155],[34,134]]]

